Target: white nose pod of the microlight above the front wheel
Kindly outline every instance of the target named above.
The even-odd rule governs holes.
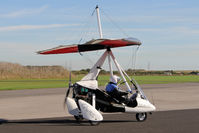
[[[144,113],[144,112],[153,112],[156,110],[156,107],[151,104],[147,99],[142,99],[141,97],[136,98],[138,105],[134,108],[125,107],[125,112],[127,113]]]

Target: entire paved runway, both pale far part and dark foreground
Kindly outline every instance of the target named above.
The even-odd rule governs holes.
[[[135,114],[103,114],[99,126],[77,123],[63,109],[65,88],[0,91],[2,133],[198,133],[199,83],[142,85],[157,112],[145,122]]]

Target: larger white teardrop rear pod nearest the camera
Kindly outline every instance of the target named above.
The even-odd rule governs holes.
[[[102,121],[103,117],[93,106],[91,106],[89,103],[78,100],[79,106],[81,109],[81,113],[83,115],[83,118],[90,120],[90,121]]]

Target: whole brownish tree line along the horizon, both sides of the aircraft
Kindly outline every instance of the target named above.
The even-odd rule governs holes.
[[[72,76],[85,75],[90,69],[72,71]],[[100,74],[108,75],[110,72],[104,69]],[[119,75],[118,71],[114,74]],[[147,71],[144,69],[128,69],[128,75],[199,75],[199,71]],[[22,66],[17,63],[0,62],[0,80],[7,79],[65,79],[68,78],[69,71],[62,66]]]

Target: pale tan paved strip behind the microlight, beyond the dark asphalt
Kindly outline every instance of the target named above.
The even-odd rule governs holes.
[[[199,109],[199,83],[141,85],[157,111]],[[103,89],[103,88],[102,88]],[[0,91],[0,119],[65,117],[66,88]]]

